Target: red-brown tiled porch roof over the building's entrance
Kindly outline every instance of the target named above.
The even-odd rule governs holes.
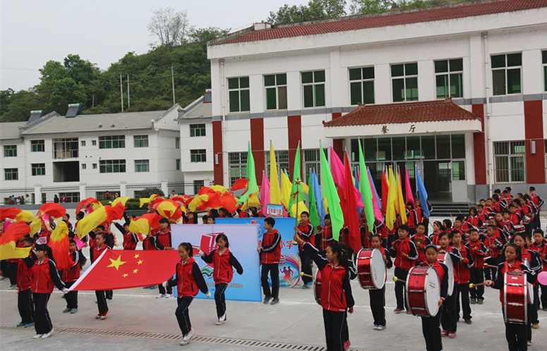
[[[360,105],[346,115],[324,123],[325,127],[409,122],[476,120],[473,113],[451,99],[385,105]]]

